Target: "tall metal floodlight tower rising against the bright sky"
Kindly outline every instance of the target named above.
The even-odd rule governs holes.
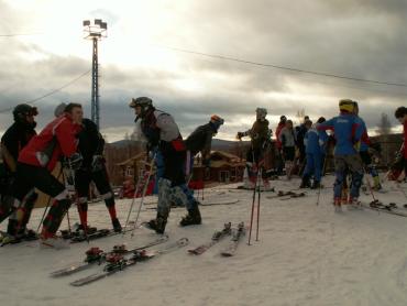
[[[99,62],[98,62],[98,41],[108,36],[108,23],[101,19],[84,20],[84,34],[86,40],[92,41],[92,84],[91,84],[91,120],[99,130]]]

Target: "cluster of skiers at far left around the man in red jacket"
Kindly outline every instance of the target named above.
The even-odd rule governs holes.
[[[9,218],[7,239],[37,238],[36,232],[26,228],[37,198],[35,188],[53,199],[40,234],[43,245],[61,245],[56,232],[73,201],[77,203],[81,229],[90,231],[87,196],[91,181],[106,201],[113,229],[121,231],[102,156],[105,141],[96,124],[82,119],[81,105],[59,105],[55,119],[38,134],[35,116],[35,107],[16,106],[14,123],[1,139],[0,222]],[[52,172],[58,162],[61,172],[55,177]]]

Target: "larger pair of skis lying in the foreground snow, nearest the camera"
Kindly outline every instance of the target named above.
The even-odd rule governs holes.
[[[146,249],[165,243],[168,241],[167,236],[157,238],[156,240],[133,249],[125,249],[124,245],[116,245],[109,252],[103,252],[99,248],[91,248],[86,252],[86,259],[84,262],[73,263],[67,267],[54,271],[51,273],[52,277],[61,277],[74,274],[79,271],[84,271],[94,265],[102,265],[103,271],[95,274],[90,274],[86,277],[78,278],[70,283],[73,286],[84,286],[89,283],[99,281],[108,277],[117,272],[123,271],[124,269],[135,265],[139,262],[151,260],[160,254],[169,253],[170,251],[186,247],[189,241],[187,238],[182,238],[173,243],[166,244],[164,248],[157,251],[146,251]]]

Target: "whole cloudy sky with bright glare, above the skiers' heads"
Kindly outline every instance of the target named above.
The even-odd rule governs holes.
[[[188,50],[304,70],[407,84],[407,1],[396,0],[0,0],[0,132],[9,108],[59,88],[91,67],[81,22],[101,18],[101,130],[108,141],[133,130],[131,97],[148,96],[174,114],[184,135],[212,113],[226,119],[219,138],[250,128],[256,107],[317,119],[338,112],[338,99],[360,101],[374,131],[406,106],[406,86],[386,86],[197,54]],[[9,34],[29,34],[8,36]],[[90,117],[90,74],[35,102],[38,128],[61,101]]]

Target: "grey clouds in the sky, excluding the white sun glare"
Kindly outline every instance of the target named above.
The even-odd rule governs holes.
[[[167,10],[174,14],[178,28],[169,23],[163,26],[154,37],[160,45],[358,78],[407,83],[407,68],[403,65],[407,51],[405,1],[209,0],[188,1],[183,8]],[[107,8],[95,12],[112,24],[120,22],[121,17]],[[4,1],[0,1],[0,29],[7,33],[14,30],[13,24],[19,20]],[[1,108],[44,95],[90,66],[88,59],[48,54],[41,45],[19,40],[2,40],[0,46],[2,50],[7,46],[0,54]],[[41,59],[25,59],[32,54],[40,54]],[[315,119],[322,114],[334,116],[338,99],[342,97],[360,101],[361,114],[370,127],[377,124],[381,112],[388,113],[396,124],[393,111],[405,105],[407,96],[407,88],[175,54],[180,58],[177,70],[102,64],[103,128],[131,129],[133,114],[127,103],[131,97],[145,95],[151,96],[158,108],[175,116],[184,134],[207,122],[211,113],[219,113],[227,119],[223,131],[230,136],[248,128],[249,123],[242,122],[244,127],[239,127],[239,122],[242,118],[254,118],[257,106],[268,109],[274,128],[279,114],[295,117],[302,108]],[[176,79],[194,79],[202,89],[180,90],[173,84]],[[55,105],[68,100],[84,102],[89,114],[90,76],[40,101],[40,125],[52,118]],[[0,114],[0,129],[4,130],[9,123],[9,114]]]

